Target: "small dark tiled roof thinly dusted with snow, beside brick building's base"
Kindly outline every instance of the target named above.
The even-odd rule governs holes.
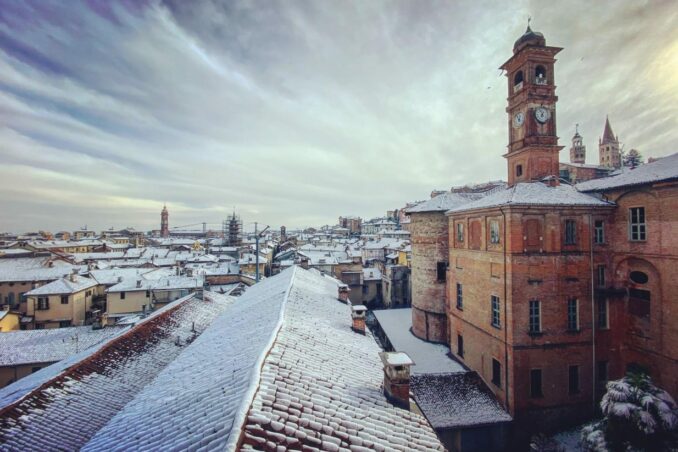
[[[512,420],[475,372],[412,375],[410,390],[435,429]]]

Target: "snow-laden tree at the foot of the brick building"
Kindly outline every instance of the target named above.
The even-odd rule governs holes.
[[[645,374],[610,381],[600,402],[603,419],[584,426],[588,451],[674,450],[678,447],[678,406]]]

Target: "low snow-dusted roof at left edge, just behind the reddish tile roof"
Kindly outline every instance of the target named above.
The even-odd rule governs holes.
[[[6,312],[6,311],[5,311]],[[111,339],[124,329],[91,326],[11,331],[0,334],[0,366],[53,363]]]

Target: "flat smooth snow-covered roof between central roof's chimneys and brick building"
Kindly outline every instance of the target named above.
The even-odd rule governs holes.
[[[412,308],[383,309],[372,313],[393,349],[407,353],[416,363],[411,369],[413,374],[466,372],[464,366],[448,356],[446,346],[423,341],[412,334]]]

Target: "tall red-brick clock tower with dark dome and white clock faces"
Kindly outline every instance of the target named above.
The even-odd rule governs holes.
[[[500,69],[508,78],[508,181],[558,176],[556,86],[553,67],[560,47],[548,47],[544,35],[527,26],[513,45],[513,56]],[[557,179],[556,179],[557,180]]]

